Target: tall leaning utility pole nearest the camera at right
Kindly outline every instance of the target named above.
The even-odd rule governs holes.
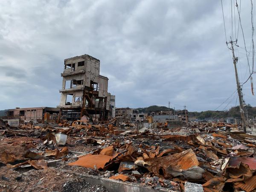
[[[242,95],[242,90],[241,90],[241,85],[239,83],[239,79],[238,79],[238,74],[237,74],[237,69],[236,69],[236,63],[238,61],[238,57],[235,57],[235,53],[234,53],[234,46],[233,43],[236,41],[232,41],[232,39],[230,38],[230,44],[231,44],[231,50],[232,50],[232,54],[233,54],[233,64],[235,67],[235,73],[236,73],[236,85],[237,85],[237,92],[238,92],[238,96],[239,96],[239,104],[240,104],[240,114],[241,114],[241,119],[242,119],[242,128],[244,130],[244,133],[246,133],[246,124],[245,124],[245,116],[244,116],[244,99],[243,99],[243,95]]]

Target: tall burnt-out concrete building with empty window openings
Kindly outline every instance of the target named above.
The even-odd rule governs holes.
[[[100,61],[90,55],[81,55],[64,60],[60,105],[61,113],[73,111],[81,116],[110,116],[111,94],[108,93],[108,78],[99,74]],[[111,108],[112,111],[112,108]],[[112,114],[112,113],[111,113]]]

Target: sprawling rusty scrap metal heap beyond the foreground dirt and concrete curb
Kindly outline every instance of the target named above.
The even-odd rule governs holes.
[[[218,131],[216,123],[194,123],[172,130],[159,124],[145,127],[143,134],[132,123],[79,120],[71,124],[61,122],[54,127],[30,123],[5,129],[6,143],[0,144],[9,148],[2,147],[0,161],[8,168],[49,170],[47,162],[69,160],[68,165],[93,169],[102,177],[136,181],[155,189],[182,191],[187,181],[200,182],[206,192],[218,192],[226,186],[256,189],[255,136]],[[230,130],[235,127],[225,125]],[[56,133],[67,135],[61,147]]]

